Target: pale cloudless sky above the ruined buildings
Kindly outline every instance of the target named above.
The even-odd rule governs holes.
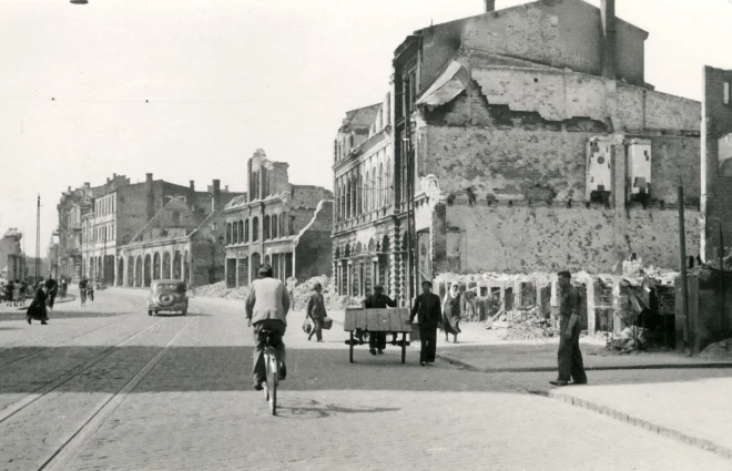
[[[113,173],[246,191],[257,149],[289,163],[291,183],[332,188],[335,133],[347,110],[382,101],[396,47],[482,9],[482,0],[0,0],[0,233],[24,231],[32,255],[40,194],[44,255],[61,193]],[[732,0],[617,0],[617,13],[649,31],[645,75],[659,91],[700,100],[704,64],[732,69]]]

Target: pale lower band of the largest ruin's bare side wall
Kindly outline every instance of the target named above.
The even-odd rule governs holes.
[[[611,209],[584,207],[447,208],[447,225],[465,231],[462,273],[612,273],[619,259],[637,253],[645,265],[678,269],[678,214],[673,209],[632,209],[626,234],[613,235]],[[687,253],[699,252],[699,213],[687,209]],[[614,240],[624,240],[617,246]],[[449,256],[449,254],[448,254]]]

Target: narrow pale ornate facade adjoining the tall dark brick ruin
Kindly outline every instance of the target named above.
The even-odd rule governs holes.
[[[389,250],[393,214],[392,94],[382,103],[346,113],[334,143],[335,208],[333,274],[338,291],[364,296],[389,289],[390,267],[401,254]]]

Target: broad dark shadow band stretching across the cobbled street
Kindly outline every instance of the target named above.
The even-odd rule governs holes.
[[[172,347],[134,389],[142,392],[252,391],[252,347]],[[161,351],[160,347],[10,347],[0,350],[0,395],[33,392],[75,367],[104,356],[55,389],[58,392],[116,392]],[[37,355],[38,354],[38,355]],[[400,362],[396,349],[373,357],[362,351],[287,349],[283,390],[462,391],[526,393],[549,389],[553,372],[472,372],[438,361],[420,367],[418,352]],[[30,358],[28,358],[30,357]],[[677,382],[732,376],[724,369],[618,370],[589,373],[591,385]],[[305,406],[305,407],[321,407]],[[355,413],[355,412],[354,412]]]

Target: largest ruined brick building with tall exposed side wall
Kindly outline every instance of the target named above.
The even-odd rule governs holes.
[[[377,216],[363,214],[363,170],[347,170],[369,152],[375,121],[353,119],[372,107],[346,116],[334,166],[342,294],[376,280],[406,303],[440,273],[611,273],[632,254],[678,268],[678,204],[698,254],[701,104],[645,82],[649,33],[612,0],[494,3],[397,47]]]

